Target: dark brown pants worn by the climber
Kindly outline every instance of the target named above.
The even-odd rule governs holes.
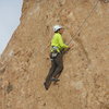
[[[49,70],[49,73],[46,77],[46,83],[50,81],[52,77],[57,77],[61,74],[63,70],[63,59],[62,53],[59,53],[56,58],[51,59],[51,68]]]

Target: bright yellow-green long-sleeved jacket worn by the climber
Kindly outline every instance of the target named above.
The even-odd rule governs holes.
[[[52,47],[57,47],[57,51],[60,52],[63,48],[69,48],[65,44],[63,44],[63,39],[61,34],[56,33],[51,40],[51,52],[53,51]]]

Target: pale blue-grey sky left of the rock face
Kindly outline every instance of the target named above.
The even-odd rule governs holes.
[[[0,0],[0,55],[20,24],[23,0]]]

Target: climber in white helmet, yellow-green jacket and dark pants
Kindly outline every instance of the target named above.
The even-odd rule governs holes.
[[[55,36],[51,39],[51,51],[50,51],[50,59],[51,59],[51,68],[49,73],[46,77],[46,82],[44,83],[45,88],[48,89],[48,83],[50,82],[58,82],[59,75],[63,70],[63,51],[68,51],[70,49],[69,46],[63,44],[62,34],[64,28],[60,25],[53,26]]]

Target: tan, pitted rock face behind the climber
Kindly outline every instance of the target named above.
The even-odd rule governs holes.
[[[44,87],[52,26],[65,43],[60,82]],[[24,0],[21,24],[0,59],[0,109],[109,109],[109,3]]]

